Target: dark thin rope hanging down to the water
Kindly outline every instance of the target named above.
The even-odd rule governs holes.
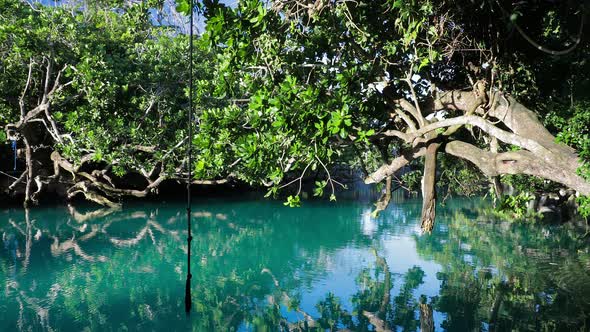
[[[193,275],[191,274],[191,242],[193,240],[193,235],[191,232],[191,181],[192,181],[192,142],[193,142],[193,0],[190,0],[190,32],[189,32],[189,111],[188,111],[188,175],[186,178],[186,225],[188,230],[187,236],[187,244],[188,244],[188,251],[187,251],[187,266],[186,266],[186,289],[184,295],[184,308],[187,314],[190,312],[192,307],[192,299],[191,299],[191,279]]]

